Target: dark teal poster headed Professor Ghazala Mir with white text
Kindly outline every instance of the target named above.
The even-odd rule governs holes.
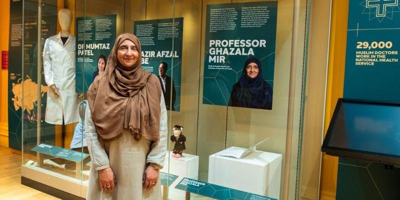
[[[252,6],[265,7],[263,11],[259,12],[259,16],[260,18],[267,16],[268,20],[261,22],[258,18],[254,19],[255,15],[247,16],[243,14],[248,12],[245,11],[247,7]],[[220,9],[228,9],[229,12],[222,12],[220,16],[216,16],[214,14],[215,10]],[[241,95],[244,90],[240,91],[244,86],[242,84],[247,82],[240,80],[240,76],[245,74],[246,79],[248,77],[245,73],[246,70],[243,71],[243,65],[249,57],[255,57],[261,63],[262,68],[262,76],[259,76],[260,74],[258,73],[258,78],[262,77],[259,81],[260,84],[254,84],[254,86],[262,88],[261,86],[263,85],[267,86],[266,83],[269,84],[264,89],[268,89],[268,97],[270,96],[272,100],[275,57],[271,55],[275,54],[273,51],[275,51],[276,47],[276,12],[276,1],[208,4],[206,6],[205,47],[204,51],[202,51],[204,53],[202,57],[203,64],[200,67],[203,70],[201,95],[203,104],[226,106],[229,105],[229,99],[232,95],[232,97],[235,97],[232,106],[235,106],[235,101],[243,101],[244,104],[249,102],[246,99],[249,96]],[[219,20],[222,23],[229,20],[229,25],[232,26],[226,28],[215,25],[216,21]],[[254,20],[251,23],[257,23],[257,25],[247,24],[250,20]],[[268,79],[268,82],[265,79]],[[237,96],[238,100],[235,100]],[[250,98],[253,97],[251,96]],[[254,104],[260,105],[260,102],[257,99]],[[268,99],[268,104],[269,102]],[[250,105],[237,107],[250,107]],[[268,106],[268,108],[261,109],[271,108]]]

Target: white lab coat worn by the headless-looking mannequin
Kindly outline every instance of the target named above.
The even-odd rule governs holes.
[[[61,33],[46,39],[43,49],[44,79],[47,86],[55,84],[60,97],[48,88],[45,121],[51,124],[79,121],[80,99],[75,92],[75,37],[69,34],[65,45]]]

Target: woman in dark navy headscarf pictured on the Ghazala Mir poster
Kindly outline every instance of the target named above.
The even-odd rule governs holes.
[[[272,109],[272,87],[262,76],[261,62],[248,58],[237,81],[230,93],[230,106]]]

